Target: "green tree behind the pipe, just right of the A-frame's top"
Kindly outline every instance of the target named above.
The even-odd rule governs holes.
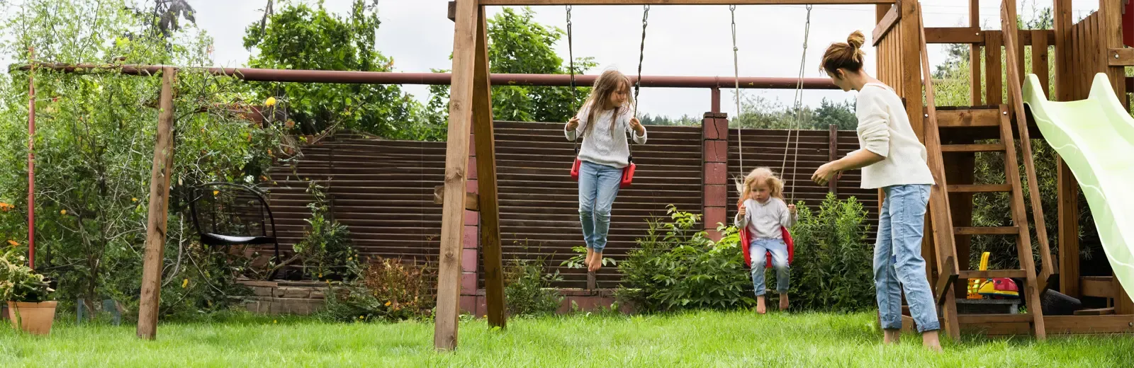
[[[534,12],[513,8],[489,19],[489,70],[494,74],[568,74],[569,66],[552,45],[564,32],[533,20]],[[576,58],[575,72],[596,67],[593,58]],[[443,70],[433,70],[434,72]],[[573,117],[586,99],[590,87],[492,86],[492,115],[496,120],[562,122]],[[429,103],[431,119],[447,119],[449,86],[432,86]]]

